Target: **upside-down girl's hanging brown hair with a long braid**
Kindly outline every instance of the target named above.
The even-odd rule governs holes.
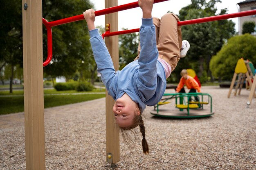
[[[120,131],[122,133],[124,142],[128,146],[131,146],[129,141],[131,141],[132,137],[130,137],[129,133],[131,133],[132,136],[135,137],[135,142],[139,139],[136,131],[134,130],[135,127],[139,126],[140,132],[142,134],[142,141],[141,141],[142,150],[143,150],[143,153],[147,155],[149,153],[148,142],[146,141],[146,138],[145,138],[145,126],[144,126],[144,121],[142,119],[141,114],[136,115],[133,120],[134,120],[134,124],[132,124],[132,126],[126,127],[126,128],[120,127]]]

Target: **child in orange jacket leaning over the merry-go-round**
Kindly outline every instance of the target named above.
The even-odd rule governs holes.
[[[182,77],[180,78],[180,83],[178,84],[178,86],[176,88],[176,93],[186,93],[185,89],[184,89],[184,85],[186,85],[186,87],[188,89],[190,89],[189,93],[196,93],[196,90],[199,93],[201,92],[201,89],[200,89],[200,87],[198,85],[198,82],[196,82],[193,77],[188,75],[188,72],[186,71],[186,69],[183,69],[180,72],[180,75]],[[195,97],[195,100],[199,101],[198,97]]]

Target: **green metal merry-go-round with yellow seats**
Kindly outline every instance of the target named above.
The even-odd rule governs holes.
[[[199,101],[193,101],[192,97],[199,97],[200,99]],[[167,106],[167,104],[171,103],[171,99],[175,99],[175,105],[173,105],[175,107]],[[162,105],[166,105],[166,107],[162,107]],[[209,105],[209,111],[204,109],[204,105]],[[209,117],[214,114],[212,111],[212,98],[207,93],[164,94],[162,102],[157,103],[154,106],[154,110],[150,111],[150,113],[154,116],[167,118],[200,118]]]

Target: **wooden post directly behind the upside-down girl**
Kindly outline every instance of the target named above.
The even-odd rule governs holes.
[[[117,0],[105,0],[105,8],[117,6]],[[118,31],[117,13],[105,15],[105,24],[110,24],[110,31]],[[115,70],[119,70],[118,36],[105,37],[105,43],[112,57]],[[112,111],[115,100],[106,92],[106,159],[108,163],[115,163],[120,159],[119,127],[115,123]]]

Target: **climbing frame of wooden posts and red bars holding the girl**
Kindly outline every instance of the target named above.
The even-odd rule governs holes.
[[[162,2],[164,0],[155,0]],[[51,61],[52,57],[52,26],[83,20],[82,15],[47,22],[42,19],[42,0],[22,0],[22,31],[23,31],[23,70],[24,70],[24,110],[25,110],[25,150],[27,169],[45,169],[45,127],[43,106],[43,66]],[[96,14],[105,16],[105,24],[111,24],[114,32],[106,33],[105,37],[128,33],[117,31],[117,11],[138,7],[138,2],[117,6],[117,0],[105,0],[106,13]],[[108,8],[110,7],[110,8]],[[234,14],[217,15],[194,20],[179,22],[179,26],[196,24],[216,20],[225,20],[233,17],[255,15],[256,10],[243,11]],[[47,27],[47,60],[43,62],[42,20]],[[49,24],[51,23],[51,24]],[[138,32],[139,29],[129,31]],[[118,70],[118,37],[109,37],[105,40],[106,46]],[[113,99],[106,95],[106,160],[113,166],[119,161],[119,131],[114,124],[112,114]]]

